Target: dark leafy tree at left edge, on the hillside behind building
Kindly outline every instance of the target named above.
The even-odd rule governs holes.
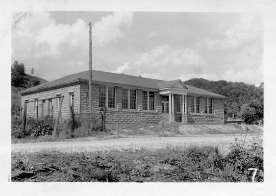
[[[14,61],[11,67],[11,85],[15,87],[25,86],[25,65]]]

